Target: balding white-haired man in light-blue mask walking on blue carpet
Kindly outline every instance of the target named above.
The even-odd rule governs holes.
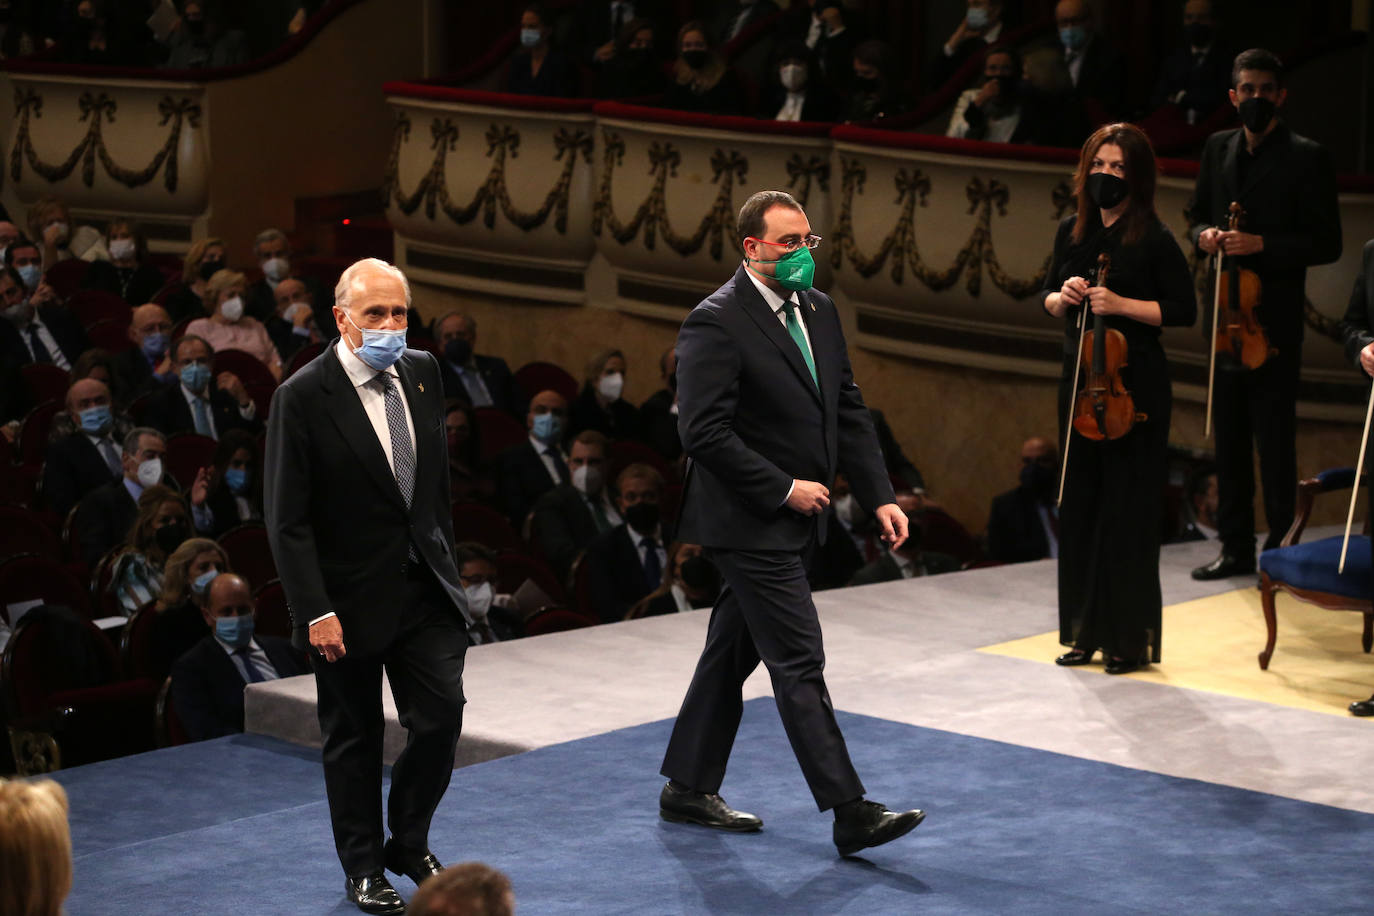
[[[438,361],[405,349],[411,290],[385,261],[344,271],[339,341],[282,383],[265,512],[293,641],[312,648],[324,786],[350,901],[404,912],[383,867],[442,869],[429,827],[463,722],[467,599],[453,563]],[[383,845],[382,672],[409,736],[392,768]]]

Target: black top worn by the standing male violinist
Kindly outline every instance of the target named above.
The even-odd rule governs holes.
[[[1263,236],[1264,250],[1238,261],[1260,275],[1264,297],[1256,313],[1270,343],[1283,349],[1303,339],[1307,268],[1341,257],[1336,169],[1326,147],[1279,124],[1242,187],[1237,159],[1243,143],[1243,128],[1208,137],[1189,205],[1189,233],[1197,244],[1202,229],[1226,228],[1232,201],[1245,207],[1241,229]]]

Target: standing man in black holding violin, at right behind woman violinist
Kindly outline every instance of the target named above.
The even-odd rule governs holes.
[[[1197,580],[1254,571],[1252,439],[1260,453],[1270,529],[1264,549],[1278,547],[1293,523],[1307,268],[1341,255],[1331,157],[1278,117],[1287,98],[1282,62],[1264,49],[1242,51],[1231,69],[1231,87],[1242,126],[1208,137],[1189,206],[1190,235],[1205,255],[1234,257],[1257,276],[1259,295],[1253,284],[1238,284],[1228,308],[1253,310],[1270,349],[1259,368],[1217,353],[1212,416],[1221,553],[1193,570]],[[1242,225],[1221,228],[1232,203],[1243,210]]]

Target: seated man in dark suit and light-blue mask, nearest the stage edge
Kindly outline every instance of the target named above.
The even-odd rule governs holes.
[[[172,666],[172,703],[192,742],[243,731],[243,688],[309,673],[302,654],[279,636],[253,632],[253,589],[234,573],[206,591],[205,623],[213,632]]]

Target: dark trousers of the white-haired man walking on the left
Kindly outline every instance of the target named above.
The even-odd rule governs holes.
[[[352,651],[337,662],[313,654],[324,736],[324,787],[334,846],[348,875],[382,869],[382,669],[407,729],[405,750],[392,766],[387,823],[393,840],[423,853],[434,809],[453,775],[463,726],[463,659],[467,636],[427,567],[407,581],[397,608],[401,623],[381,654]],[[348,632],[344,632],[348,648]]]

